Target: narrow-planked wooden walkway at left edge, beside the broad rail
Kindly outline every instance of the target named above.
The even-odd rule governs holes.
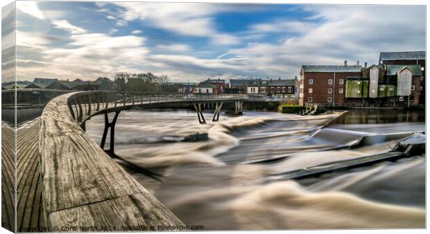
[[[40,120],[17,129],[17,231],[35,232],[46,228],[44,222],[44,208],[42,206],[42,182],[39,168],[39,126]],[[15,131],[5,123],[1,126],[3,154],[3,181],[7,185],[2,187],[4,197],[2,222],[6,222],[8,229],[15,226],[14,204],[15,195]]]

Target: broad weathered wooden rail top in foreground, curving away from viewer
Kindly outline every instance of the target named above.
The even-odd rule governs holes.
[[[72,95],[51,100],[40,118],[40,173],[49,228],[157,231],[157,226],[182,226],[178,217],[85,134],[71,116]],[[91,107],[85,109],[87,114]]]

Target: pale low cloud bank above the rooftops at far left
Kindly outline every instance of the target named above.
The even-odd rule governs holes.
[[[76,26],[61,25],[67,25],[76,33]],[[26,38],[17,42],[19,47],[31,50],[18,50],[17,74],[26,78],[34,75],[85,79],[109,77],[117,71],[139,71],[137,67],[145,62],[149,53],[144,46],[144,37],[113,37],[104,33],[83,33],[81,30],[78,33],[69,36],[69,43],[56,45],[45,35],[18,31],[17,35],[22,37],[17,38]],[[26,58],[29,51],[33,51],[31,56],[34,59]]]

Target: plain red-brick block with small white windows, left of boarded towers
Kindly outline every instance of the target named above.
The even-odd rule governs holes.
[[[361,79],[357,65],[303,65],[300,69],[299,105],[345,103],[346,81]]]

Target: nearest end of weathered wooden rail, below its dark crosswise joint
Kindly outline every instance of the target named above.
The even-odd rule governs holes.
[[[112,229],[108,231],[131,231],[129,226],[144,226],[150,231],[151,227],[157,228],[158,225],[175,226],[182,223],[167,208],[160,206],[159,202],[147,199],[147,196],[141,193],[56,211],[49,214],[49,220],[53,230],[60,229],[61,226],[101,228],[103,225],[109,224],[108,226]],[[55,224],[61,225],[55,226]],[[87,231],[103,230],[90,229]]]

